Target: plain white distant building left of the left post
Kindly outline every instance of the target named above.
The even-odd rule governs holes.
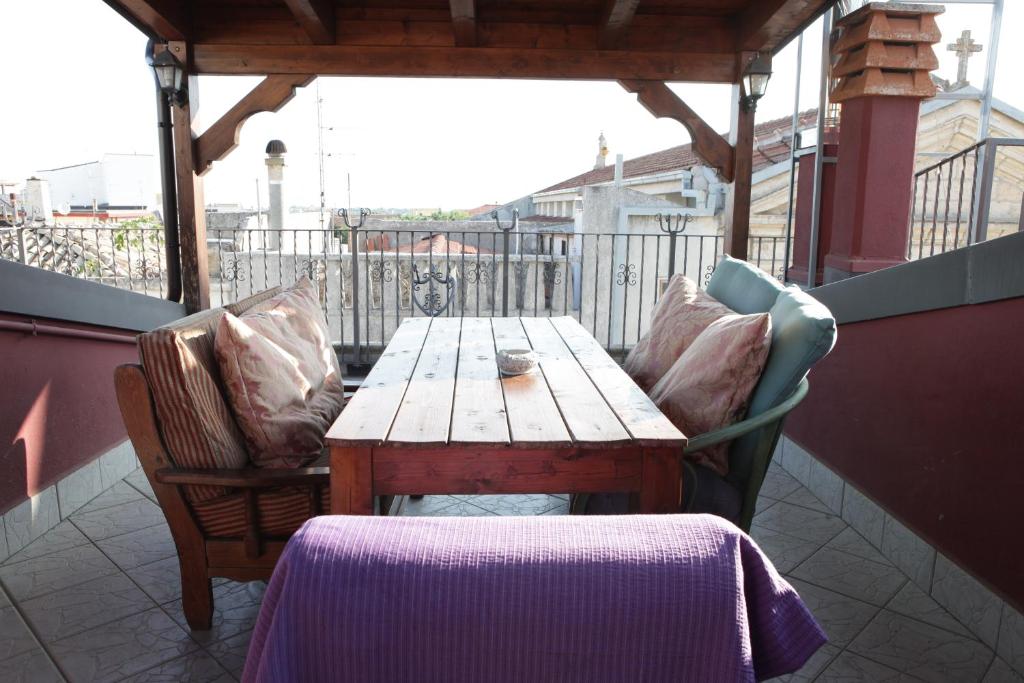
[[[50,201],[60,220],[100,215],[117,219],[147,213],[157,204],[156,171],[153,155],[104,154],[99,161],[37,175],[49,182]]]

